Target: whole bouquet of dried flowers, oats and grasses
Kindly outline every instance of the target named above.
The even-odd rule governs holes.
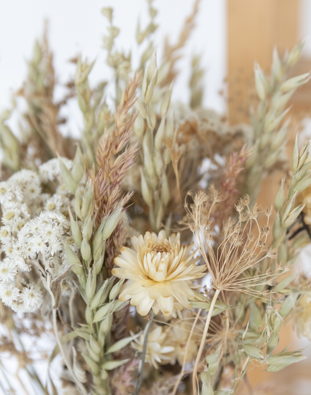
[[[251,126],[230,127],[201,105],[198,56],[190,104],[171,103],[198,1],[160,63],[148,3],[135,72],[115,49],[113,10],[102,9],[115,110],[107,82],[90,87],[94,62],[81,55],[67,96],[54,102],[45,35],[17,92],[28,105],[18,138],[11,110],[1,114],[0,352],[17,356],[15,380],[26,393],[21,371],[45,395],[234,394],[251,365],[275,372],[305,358],[275,351],[285,318],[311,338],[310,281],[291,274],[311,237],[310,142],[298,150],[296,138],[291,170],[285,155],[287,103],[310,78],[286,77],[303,43],[283,60],[274,51],[270,77],[255,66]],[[71,98],[84,120],[80,139],[60,133]],[[288,176],[274,207],[260,207],[261,181],[276,169]],[[54,346],[46,381],[35,368],[43,354],[32,357],[24,344],[43,334]]]

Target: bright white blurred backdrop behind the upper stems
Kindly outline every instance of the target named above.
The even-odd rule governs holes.
[[[48,19],[48,38],[54,52],[54,67],[60,83],[74,73],[68,59],[82,53],[89,60],[96,58],[90,74],[92,85],[109,79],[111,70],[104,64],[106,51],[102,49],[102,36],[108,22],[100,12],[103,6],[114,8],[114,25],[120,28],[116,39],[118,49],[132,51],[132,68],[138,66],[142,48],[135,40],[136,24],[141,17],[141,28],[149,21],[147,2],[144,0],[0,0],[0,110],[10,101],[10,90],[17,90],[26,75],[26,61],[30,59],[35,38],[43,32],[43,21]],[[164,37],[176,41],[184,19],[192,12],[192,0],[155,0],[158,9],[155,34],[158,57],[161,58]],[[226,19],[225,0],[203,0],[196,18],[196,28],[177,66],[182,72],[176,80],[173,100],[188,102],[188,80],[192,54],[202,54],[205,74],[204,104],[223,112],[225,104],[218,94],[223,88],[226,74]],[[60,89],[56,90],[58,96]],[[57,97],[56,97],[57,98]],[[72,107],[69,106],[69,107]],[[78,132],[80,119],[77,111],[67,109],[71,116],[71,134]],[[76,118],[76,119],[75,119]],[[14,131],[16,132],[16,131]]]

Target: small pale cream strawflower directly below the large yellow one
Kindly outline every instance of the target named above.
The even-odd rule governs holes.
[[[143,333],[138,339],[134,339],[134,341],[131,342],[132,348],[142,352],[144,339],[145,334]],[[167,364],[171,361],[171,358],[166,354],[173,352],[174,347],[165,346],[165,339],[166,333],[162,331],[162,327],[160,326],[156,326],[155,329],[151,330],[148,336],[145,362],[153,365],[156,369],[158,369],[158,363]]]

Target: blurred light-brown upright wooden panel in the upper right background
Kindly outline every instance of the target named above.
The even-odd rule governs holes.
[[[228,111],[231,124],[249,122],[255,100],[253,67],[270,71],[276,45],[282,56],[298,40],[299,0],[227,0]]]

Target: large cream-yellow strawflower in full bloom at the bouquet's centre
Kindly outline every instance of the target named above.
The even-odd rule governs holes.
[[[112,269],[119,278],[128,278],[123,284],[119,299],[130,300],[140,315],[148,314],[153,308],[169,316],[173,309],[190,307],[188,297],[194,297],[191,280],[203,277],[205,265],[196,266],[192,246],[182,247],[180,235],[172,233],[166,239],[164,230],[158,236],[147,232],[145,237],[132,237],[135,250],[122,247],[114,262],[121,269]]]

